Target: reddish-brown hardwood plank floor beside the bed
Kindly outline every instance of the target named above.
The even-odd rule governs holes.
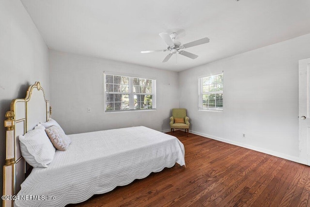
[[[310,206],[309,166],[184,131],[173,135],[185,145],[186,167],[176,164],[70,206]]]

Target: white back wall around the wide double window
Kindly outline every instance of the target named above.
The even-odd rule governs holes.
[[[178,74],[135,64],[49,51],[52,117],[65,133],[146,126],[169,130],[171,109],[179,107]],[[156,111],[104,112],[103,72],[156,78]],[[87,108],[92,112],[88,113]]]

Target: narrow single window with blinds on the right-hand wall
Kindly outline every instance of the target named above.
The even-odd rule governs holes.
[[[199,110],[223,111],[223,72],[198,77]]]

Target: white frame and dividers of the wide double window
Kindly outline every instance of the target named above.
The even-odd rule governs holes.
[[[106,91],[106,76],[121,76],[128,78],[128,93],[126,92],[109,92]],[[115,73],[115,72],[108,72],[104,71],[104,112],[110,113],[110,112],[128,112],[128,111],[155,111],[156,110],[156,78],[154,77],[146,77],[146,76],[140,76],[140,75],[131,75],[131,74],[124,74],[124,73]],[[145,79],[145,80],[151,80],[152,81],[152,93],[136,93],[134,92],[134,79]],[[120,85],[123,85],[122,83]],[[114,87],[114,83],[113,83]],[[121,94],[121,95],[128,95],[128,101],[129,101],[129,109],[127,110],[108,110],[107,111],[107,94]],[[145,95],[145,96],[152,96],[152,109],[135,109],[135,96],[137,95]],[[115,104],[115,100],[113,101]]]

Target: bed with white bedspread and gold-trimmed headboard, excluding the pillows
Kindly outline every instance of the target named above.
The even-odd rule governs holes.
[[[51,117],[49,101],[39,82],[26,98],[15,99],[6,113],[6,163],[3,166],[3,206],[65,206],[94,194],[112,191],[175,163],[185,166],[184,145],[168,134],[129,127],[68,135],[66,151],[56,150],[47,168],[28,169],[19,135]]]

